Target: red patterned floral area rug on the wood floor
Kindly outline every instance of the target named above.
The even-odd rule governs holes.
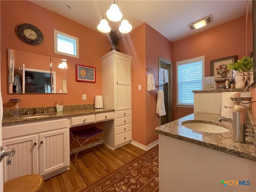
[[[158,192],[158,146],[80,192]]]

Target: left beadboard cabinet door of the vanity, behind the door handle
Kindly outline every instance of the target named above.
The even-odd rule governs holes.
[[[4,182],[27,174],[38,174],[37,141],[37,134],[3,141],[4,149],[16,149],[11,165],[6,166],[7,157],[3,158]]]

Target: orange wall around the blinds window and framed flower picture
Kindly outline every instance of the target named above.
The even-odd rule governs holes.
[[[176,62],[205,56],[205,76],[210,76],[210,60],[237,55],[250,56],[252,46],[252,14],[248,17],[248,52],[246,53],[246,17],[240,17],[173,43],[173,119],[193,113],[193,108],[177,107]],[[218,83],[218,84],[224,84]]]

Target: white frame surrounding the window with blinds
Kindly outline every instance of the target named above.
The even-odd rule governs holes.
[[[195,58],[190,58],[187,60],[182,60],[182,61],[177,61],[176,62],[176,86],[177,86],[177,91],[176,91],[176,96],[177,96],[177,100],[176,100],[176,106],[177,107],[186,107],[186,108],[194,108],[194,102],[193,104],[180,104],[179,103],[179,81],[178,81],[178,66],[180,65],[184,65],[184,64],[190,64],[193,62],[198,62],[198,60],[202,60],[202,86],[203,86],[203,79],[204,79],[204,67],[205,67],[205,56],[198,56]],[[202,87],[203,88],[203,87]]]

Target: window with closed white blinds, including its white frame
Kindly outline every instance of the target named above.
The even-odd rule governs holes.
[[[203,89],[204,56],[179,61],[177,65],[177,106],[193,107],[192,90]]]

